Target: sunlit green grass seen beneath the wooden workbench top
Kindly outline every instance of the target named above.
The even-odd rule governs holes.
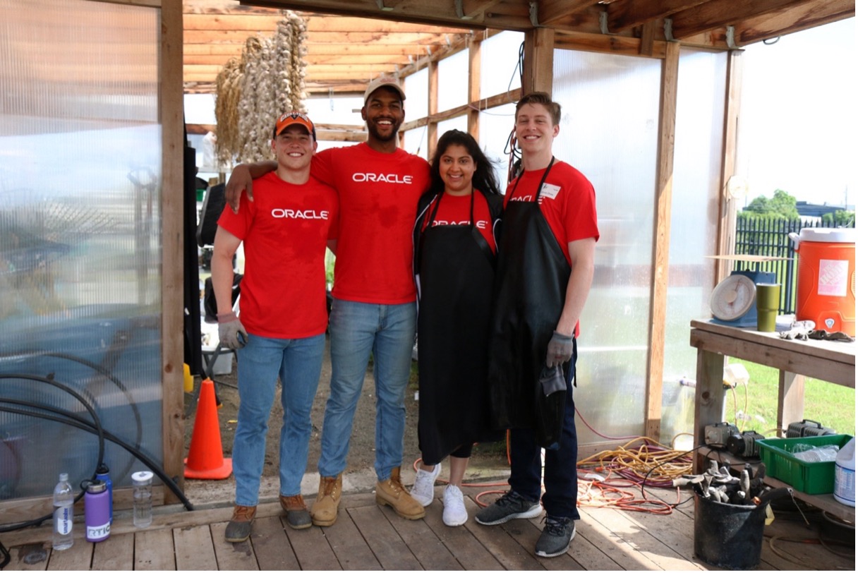
[[[739,384],[725,396],[725,419],[740,430],[754,430],[765,437],[776,437],[778,371],[745,360],[730,359],[744,365],[750,382],[746,390]],[[735,399],[735,401],[734,401]],[[747,413],[751,419],[736,419],[735,413]],[[804,419],[812,419],[840,434],[855,436],[855,389],[827,383],[814,378],[805,379]],[[800,419],[784,420],[786,424]]]

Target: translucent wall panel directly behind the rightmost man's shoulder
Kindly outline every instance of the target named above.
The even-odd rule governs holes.
[[[656,59],[554,51],[553,95],[563,107],[554,155],[592,182],[601,232],[575,402],[611,437],[644,431],[661,70]],[[581,443],[604,441],[577,428]]]

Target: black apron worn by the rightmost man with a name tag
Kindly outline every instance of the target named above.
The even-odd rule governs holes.
[[[565,390],[546,397],[539,377],[571,274],[538,202],[553,163],[554,158],[542,175],[535,201],[515,201],[519,178],[506,203],[488,373],[495,427],[534,430],[545,447],[559,438]],[[567,377],[569,367],[570,363],[564,365]]]

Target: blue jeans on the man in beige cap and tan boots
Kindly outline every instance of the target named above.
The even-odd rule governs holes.
[[[346,468],[354,410],[371,352],[376,383],[378,480],[387,480],[391,470],[402,465],[405,390],[416,325],[415,303],[372,305],[334,299],[329,323],[330,396],[325,405],[318,465],[321,475],[335,476]]]

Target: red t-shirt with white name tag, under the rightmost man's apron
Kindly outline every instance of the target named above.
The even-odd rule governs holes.
[[[536,197],[544,169],[523,172],[506,188],[504,206],[510,201],[533,202]],[[516,182],[518,183],[516,185]],[[513,190],[515,192],[513,193]],[[542,215],[551,227],[554,238],[569,258],[569,244],[581,238],[599,240],[599,227],[595,214],[595,190],[593,184],[575,167],[565,161],[554,161],[548,177],[542,185],[539,197]]]

